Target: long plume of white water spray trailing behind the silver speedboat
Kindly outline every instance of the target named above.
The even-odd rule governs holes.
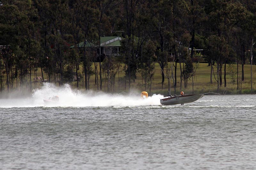
[[[59,102],[44,103],[43,99],[59,96]],[[104,92],[89,91],[82,93],[72,90],[69,85],[57,87],[51,83],[44,83],[41,89],[35,89],[32,97],[20,99],[1,99],[0,107],[124,107],[160,105],[162,95],[154,94],[147,99],[138,94],[121,95],[106,94]]]

